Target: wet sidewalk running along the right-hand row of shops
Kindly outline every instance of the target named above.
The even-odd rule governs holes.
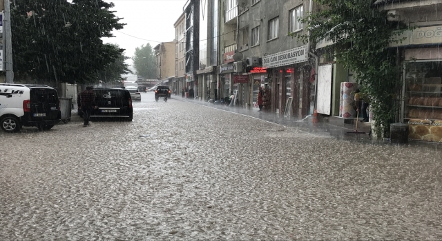
[[[205,101],[195,101],[187,98],[181,98],[180,96],[172,96],[172,98],[177,101],[184,101],[197,105],[204,105],[206,107],[221,109],[223,111],[241,114],[244,116],[250,116],[252,118],[258,118],[262,121],[276,123],[278,125],[283,125],[285,127],[293,127],[303,132],[309,132],[321,136],[333,136],[338,140],[347,140],[357,143],[376,144],[376,145],[390,144],[390,140],[388,139],[372,138],[372,136],[369,136],[368,132],[370,127],[367,123],[358,123],[358,131],[365,132],[365,134],[348,133],[355,131],[356,123],[353,124],[354,121],[348,123],[348,121],[345,121],[342,118],[336,118],[334,116],[327,118],[319,118],[318,123],[313,123],[312,116],[307,116],[306,118],[301,120],[298,118],[294,118],[293,116],[285,117],[277,113],[273,114],[269,112],[258,112],[258,110],[253,110],[253,109],[244,109],[242,107],[228,107],[225,105],[215,105],[213,103],[207,103]],[[409,140],[408,145],[414,147],[430,147],[432,149],[442,149],[442,143],[430,143],[418,140]]]

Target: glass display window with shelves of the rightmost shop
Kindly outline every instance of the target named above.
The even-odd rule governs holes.
[[[442,120],[442,61],[405,66],[405,119]]]

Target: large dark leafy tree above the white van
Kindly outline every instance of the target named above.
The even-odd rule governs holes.
[[[102,0],[16,0],[11,6],[12,54],[17,78],[60,83],[94,82],[97,71],[124,49],[102,37],[124,23]]]

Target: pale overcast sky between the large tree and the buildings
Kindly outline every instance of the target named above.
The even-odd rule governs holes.
[[[135,48],[150,43],[155,47],[160,42],[175,39],[173,23],[182,14],[186,0],[104,0],[115,4],[111,10],[120,23],[126,23],[122,30],[115,30],[113,38],[104,38],[104,43],[117,43],[126,49],[124,54],[133,56]],[[128,63],[132,63],[129,61]]]

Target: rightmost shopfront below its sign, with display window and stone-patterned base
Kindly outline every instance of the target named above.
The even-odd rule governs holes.
[[[410,139],[442,142],[442,51],[407,49],[403,94]]]

